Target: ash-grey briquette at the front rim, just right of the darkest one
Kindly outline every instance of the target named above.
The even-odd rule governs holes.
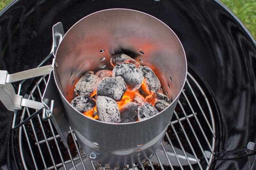
[[[138,108],[138,118],[139,120],[144,120],[154,116],[158,113],[157,109],[149,103],[143,104]]]

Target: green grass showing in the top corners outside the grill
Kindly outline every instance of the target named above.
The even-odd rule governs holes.
[[[0,10],[12,0],[0,0]],[[221,0],[246,25],[256,38],[256,0]]]

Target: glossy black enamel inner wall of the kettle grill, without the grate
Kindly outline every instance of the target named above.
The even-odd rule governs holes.
[[[48,55],[51,27],[58,21],[63,22],[67,31],[87,14],[108,8],[136,9],[157,17],[178,35],[188,63],[211,89],[220,118],[215,121],[219,130],[216,149],[232,150],[244,147],[249,141],[256,142],[255,40],[215,1],[24,0],[8,8],[0,16],[0,70],[9,73],[33,68]],[[12,113],[3,105],[0,112],[0,167],[15,169]],[[14,155],[19,156],[18,152]],[[253,165],[254,159],[251,156],[217,161],[212,168],[246,169]]]

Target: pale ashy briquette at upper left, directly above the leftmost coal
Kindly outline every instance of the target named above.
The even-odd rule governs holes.
[[[84,74],[75,85],[76,95],[89,96],[94,92],[101,79],[93,74]]]

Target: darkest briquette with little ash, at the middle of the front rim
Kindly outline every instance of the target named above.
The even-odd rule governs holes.
[[[129,102],[120,108],[121,122],[129,123],[138,120],[138,107],[140,105],[134,102]]]

